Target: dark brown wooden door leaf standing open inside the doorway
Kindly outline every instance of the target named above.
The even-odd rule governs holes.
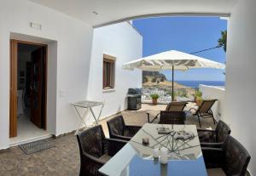
[[[44,89],[44,48],[32,52],[32,78],[31,78],[31,121],[43,128],[43,89]]]

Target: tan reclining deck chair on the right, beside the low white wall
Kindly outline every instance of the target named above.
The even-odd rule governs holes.
[[[213,123],[215,124],[215,119],[212,113],[212,105],[215,103],[215,101],[217,101],[218,99],[205,99],[201,102],[201,105],[199,105],[198,109],[195,110],[195,108],[191,108],[189,111],[191,110],[195,110],[195,113],[193,114],[193,116],[197,116],[198,117],[198,122],[199,125],[201,127],[201,118],[212,118]]]

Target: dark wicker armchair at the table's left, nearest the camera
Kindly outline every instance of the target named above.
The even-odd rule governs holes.
[[[106,139],[102,126],[86,129],[77,135],[80,150],[80,176],[100,175],[98,169],[115,155],[127,141]]]

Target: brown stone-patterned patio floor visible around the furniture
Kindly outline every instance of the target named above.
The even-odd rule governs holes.
[[[143,125],[147,122],[146,110],[157,114],[166,105],[143,105],[140,111],[123,111],[125,123]],[[106,120],[102,120],[106,136],[108,128]],[[187,117],[187,123],[198,125],[197,119]],[[212,119],[203,120],[204,128],[214,128]],[[73,134],[54,139],[55,147],[32,155],[25,155],[19,147],[12,147],[0,153],[0,176],[76,176],[79,175],[79,146]]]

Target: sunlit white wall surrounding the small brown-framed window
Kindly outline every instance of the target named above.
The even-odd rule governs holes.
[[[142,71],[125,71],[122,65],[142,57],[143,37],[127,22],[96,28],[93,35],[88,99],[105,101],[102,117],[106,117],[126,108],[128,88],[142,86]],[[103,54],[116,57],[115,87],[110,92],[102,91]]]

